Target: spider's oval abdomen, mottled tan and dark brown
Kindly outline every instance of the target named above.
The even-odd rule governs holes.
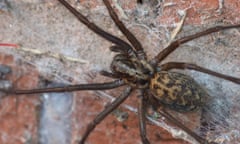
[[[194,79],[177,72],[156,73],[150,81],[150,91],[161,104],[181,112],[202,107],[208,97]]]

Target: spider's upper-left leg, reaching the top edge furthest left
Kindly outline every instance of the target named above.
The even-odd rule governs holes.
[[[74,7],[72,7],[69,3],[67,3],[65,0],[58,0],[60,3],[62,3],[73,15],[75,15],[79,21],[81,21],[84,25],[86,25],[90,30],[92,30],[94,33],[98,34],[99,36],[103,37],[104,39],[116,44],[120,45],[121,49],[123,49],[126,53],[129,51],[132,52],[132,47],[125,41],[121,40],[120,38],[104,31],[94,23],[90,22],[85,16],[83,16],[81,13],[79,13]]]

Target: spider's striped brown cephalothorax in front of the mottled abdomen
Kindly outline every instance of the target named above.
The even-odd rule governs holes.
[[[154,69],[146,60],[139,60],[135,54],[120,53],[111,63],[113,75],[136,88],[148,88]]]

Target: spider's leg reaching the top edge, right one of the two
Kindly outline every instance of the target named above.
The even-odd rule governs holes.
[[[106,5],[108,12],[113,19],[114,23],[120,29],[120,31],[127,37],[129,42],[133,45],[136,49],[138,56],[141,59],[146,59],[146,55],[143,52],[142,44],[138,41],[138,39],[126,28],[126,26],[122,23],[122,21],[118,18],[116,12],[113,10],[111,4],[108,0],[103,0],[104,4]]]

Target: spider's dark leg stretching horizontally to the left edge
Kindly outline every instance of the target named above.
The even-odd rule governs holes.
[[[46,92],[72,92],[80,90],[106,90],[113,89],[125,85],[123,80],[116,80],[106,83],[95,83],[95,84],[79,84],[79,85],[68,85],[65,87],[54,87],[54,88],[40,88],[40,89],[31,89],[31,90],[6,90],[0,89],[1,92],[7,94],[36,94],[36,93],[46,93]]]

